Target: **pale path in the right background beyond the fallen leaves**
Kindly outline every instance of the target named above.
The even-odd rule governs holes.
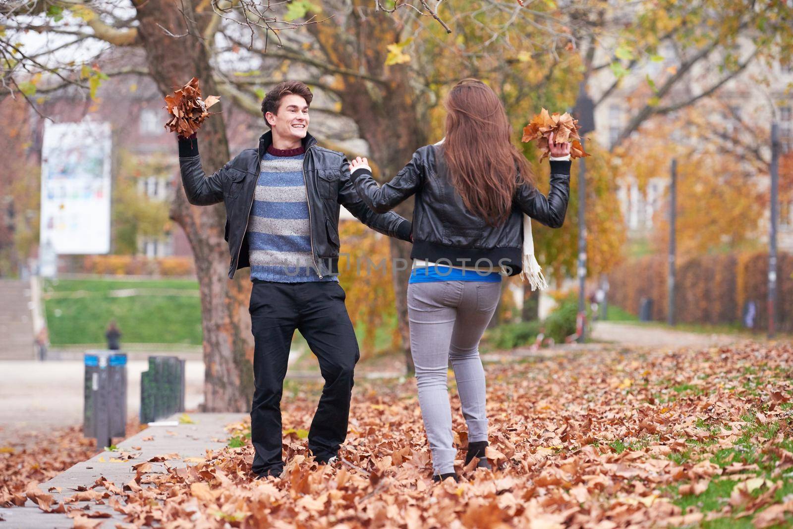
[[[687,333],[649,325],[595,322],[592,339],[641,347],[710,347],[743,341],[740,335]]]

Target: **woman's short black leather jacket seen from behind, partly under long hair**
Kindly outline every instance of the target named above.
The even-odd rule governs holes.
[[[382,187],[368,169],[356,169],[352,179],[358,195],[378,213],[416,195],[412,258],[463,267],[503,265],[514,276],[523,268],[523,213],[552,228],[565,222],[570,162],[550,162],[547,198],[533,185],[519,185],[512,211],[499,226],[489,225],[466,209],[446,174],[442,145],[416,150],[408,165]]]

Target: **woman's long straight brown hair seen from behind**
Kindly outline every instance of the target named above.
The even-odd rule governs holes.
[[[531,182],[526,158],[510,141],[504,105],[484,82],[463,79],[446,98],[446,111],[442,152],[451,184],[468,211],[498,226],[511,211],[518,173]]]

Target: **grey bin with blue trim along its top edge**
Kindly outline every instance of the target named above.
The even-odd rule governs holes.
[[[82,435],[97,447],[109,447],[113,437],[127,433],[127,355],[89,351],[84,356],[85,390]]]

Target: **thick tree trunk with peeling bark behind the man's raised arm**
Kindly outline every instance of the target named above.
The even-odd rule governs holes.
[[[191,2],[135,0],[140,40],[151,77],[163,95],[197,77],[204,96],[217,93],[209,56],[202,40],[201,18]],[[180,13],[179,9],[185,10]],[[205,20],[205,19],[203,19]],[[162,28],[160,27],[162,26]],[[163,31],[167,29],[174,37]],[[220,104],[213,107],[220,112]],[[165,115],[163,113],[163,122]],[[228,141],[222,114],[205,121],[201,136],[201,164],[207,174],[228,162]],[[174,144],[176,139],[174,138]],[[175,147],[175,145],[174,145]],[[181,188],[181,186],[177,186]],[[222,204],[191,207],[177,191],[170,217],[185,230],[193,249],[201,289],[201,327],[204,332],[204,409],[246,411],[253,392],[253,337],[247,314],[251,286],[238,274],[228,281],[228,245],[224,241]]]

